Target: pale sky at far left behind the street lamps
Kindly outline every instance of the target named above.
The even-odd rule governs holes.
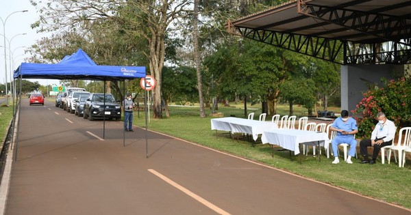
[[[16,12],[28,10],[28,12]],[[16,12],[12,14],[13,12]],[[10,15],[11,14],[11,15]],[[9,16],[10,15],[10,16]],[[30,4],[29,0],[0,0],[0,17],[5,22],[3,28],[3,22],[0,20],[0,83],[5,83],[5,65],[4,65],[4,38],[7,48],[6,50],[6,64],[7,64],[7,79],[10,83],[10,64],[12,64],[12,70],[16,70],[18,66],[26,62],[25,58],[29,55],[24,53],[25,48],[36,44],[41,38],[47,37],[45,33],[36,33],[36,29],[32,29],[30,25],[38,19],[38,13],[36,8]],[[7,20],[6,20],[7,18]],[[3,32],[5,30],[5,33]],[[27,33],[26,35],[20,35]],[[9,42],[10,41],[10,49]],[[25,46],[25,47],[22,47]],[[11,60],[14,63],[10,63],[9,52],[12,51]],[[38,81],[40,85],[59,85],[59,80],[47,80],[47,79],[29,79],[28,81]]]

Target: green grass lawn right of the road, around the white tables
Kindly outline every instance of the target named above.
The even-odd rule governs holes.
[[[242,104],[239,104],[239,106],[242,107]],[[249,108],[249,113],[255,111],[256,115],[254,118],[258,119],[258,115],[261,113],[260,106],[249,106]],[[280,115],[288,115],[287,105],[280,105],[277,110],[277,113]],[[332,108],[329,111],[340,113],[338,108]],[[206,112],[207,115],[211,113],[210,109],[207,109]],[[244,117],[244,110],[239,107],[220,106],[216,112],[224,113],[225,117],[230,115]],[[302,107],[295,106],[295,115],[301,116],[304,112],[306,113]],[[163,114],[165,116],[165,113]],[[345,162],[332,164],[332,160],[327,159],[325,152],[323,152],[321,162],[319,162],[318,158],[303,156],[302,163],[300,164],[299,156],[290,156],[288,151],[275,152],[274,156],[271,157],[271,147],[269,144],[257,144],[256,147],[252,147],[251,142],[246,139],[232,141],[228,134],[223,134],[222,131],[219,131],[218,137],[216,137],[215,130],[210,129],[210,119],[212,117],[201,119],[198,107],[171,106],[170,115],[170,118],[149,119],[149,130],[155,130],[173,137],[206,145],[213,149],[262,162],[319,182],[325,182],[375,199],[411,208],[411,198],[409,197],[411,186],[408,183],[411,178],[410,165],[406,165],[405,168],[399,168],[394,159],[391,164],[381,164],[380,161],[374,165],[359,164],[360,160],[355,158],[353,159],[353,164]],[[135,111],[134,124],[145,127],[144,116],[144,112],[138,113]],[[267,117],[266,121],[271,121],[271,117]],[[343,160],[343,158],[340,158],[340,160]],[[407,163],[410,163],[410,161]]]

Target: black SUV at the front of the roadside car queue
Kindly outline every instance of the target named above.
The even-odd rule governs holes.
[[[121,106],[112,94],[90,94],[84,104],[84,119],[121,119]]]

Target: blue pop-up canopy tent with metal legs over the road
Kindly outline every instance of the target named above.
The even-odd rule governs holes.
[[[45,63],[21,63],[21,66],[14,71],[14,78],[47,78],[47,79],[80,79],[92,81],[125,81],[134,78],[145,78],[145,66],[98,66],[88,55],[82,51],[81,48],[73,55],[67,55],[59,63],[45,64]],[[21,83],[21,82],[20,82]],[[105,87],[105,84],[104,84]],[[123,83],[125,94],[125,88]],[[20,84],[21,91],[21,84]],[[105,89],[104,89],[105,91]],[[19,104],[16,109],[20,107],[21,94]],[[146,114],[147,117],[147,114]],[[20,114],[18,114],[18,119]],[[14,119],[15,121],[15,119]],[[104,119],[105,121],[105,119]],[[146,119],[147,124],[147,119]],[[17,126],[18,127],[18,126]],[[13,127],[14,128],[14,127]],[[147,125],[146,125],[147,128]],[[104,128],[105,130],[105,122]],[[104,139],[103,130],[103,139]],[[13,132],[14,133],[14,132]],[[125,135],[124,135],[125,139]],[[124,145],[125,140],[123,140]],[[16,143],[18,143],[18,132]],[[147,135],[146,135],[147,145]],[[147,148],[147,147],[146,147]],[[147,149],[146,149],[147,152]],[[147,154],[146,154],[147,156]],[[17,147],[15,156],[17,157]]]

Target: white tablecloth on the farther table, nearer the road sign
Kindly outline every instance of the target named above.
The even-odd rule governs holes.
[[[251,134],[254,141],[257,140],[258,134],[262,134],[264,130],[273,130],[277,128],[277,124],[273,124],[271,121],[258,121],[237,117],[211,119],[212,130],[224,130],[232,133]]]

